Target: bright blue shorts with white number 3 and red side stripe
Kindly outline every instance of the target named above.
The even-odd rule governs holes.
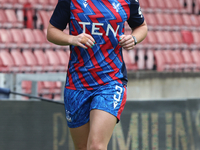
[[[106,111],[120,120],[127,97],[126,86],[118,82],[100,86],[96,90],[78,91],[65,88],[64,102],[67,124],[70,128],[89,122],[90,111]]]

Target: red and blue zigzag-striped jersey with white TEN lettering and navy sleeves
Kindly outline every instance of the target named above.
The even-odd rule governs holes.
[[[92,48],[70,46],[66,88],[93,90],[109,82],[127,84],[119,37],[124,23],[135,28],[144,22],[138,0],[59,0],[50,23],[71,35],[90,34]]]

